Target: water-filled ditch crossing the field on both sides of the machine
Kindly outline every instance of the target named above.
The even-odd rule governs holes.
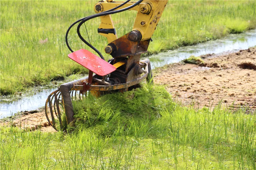
[[[149,56],[152,68],[177,63],[191,55],[200,56],[211,53],[223,53],[238,49],[248,49],[256,45],[256,29],[243,34],[230,35],[229,37],[214,41],[200,43],[194,46],[185,46],[176,50]],[[35,110],[44,106],[47,96],[57,88],[41,90],[34,95],[24,95],[19,100],[12,102],[0,101],[0,118],[11,116],[25,110]]]

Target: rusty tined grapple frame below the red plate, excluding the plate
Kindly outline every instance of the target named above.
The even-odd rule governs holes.
[[[55,130],[64,131],[66,129],[66,125],[70,124],[73,121],[73,100],[82,100],[83,97],[86,97],[87,95],[94,95],[98,97],[98,94],[104,91],[121,92],[123,90],[128,90],[128,88],[133,87],[136,84],[141,83],[145,79],[147,81],[152,80],[152,71],[149,59],[141,60],[139,62],[139,65],[134,66],[134,68],[128,74],[136,76],[138,78],[130,78],[132,80],[121,83],[121,80],[123,81],[123,79],[120,80],[117,77],[110,75],[109,81],[104,80],[103,82],[106,83],[104,84],[99,81],[100,79],[96,78],[98,76],[94,74],[92,84],[89,85],[89,89],[87,90],[87,92],[89,93],[83,92],[84,84],[89,81],[89,76],[79,80],[74,80],[72,82],[61,84],[58,90],[53,91],[47,97],[45,103],[45,115],[49,124]]]

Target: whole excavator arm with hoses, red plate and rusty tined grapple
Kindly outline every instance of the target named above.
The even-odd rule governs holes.
[[[82,100],[88,95],[99,97],[112,92],[125,92],[136,88],[143,80],[152,82],[152,70],[149,59],[140,60],[141,54],[146,53],[151,37],[160,20],[162,12],[168,0],[139,0],[138,2],[121,2],[104,0],[94,5],[97,13],[90,17],[78,20],[77,28],[79,38],[91,47],[100,57],[80,49],[72,51],[68,45],[66,33],[66,44],[72,53],[68,57],[81,64],[89,70],[88,77],[61,84],[58,90],[52,92],[45,103],[45,115],[49,124],[56,130],[65,131],[72,123],[74,109],[72,102]],[[137,16],[131,32],[117,38],[116,30],[110,14],[119,11],[135,10]],[[79,28],[89,18],[100,17],[101,24],[98,33],[107,37],[108,44],[105,53],[112,59],[105,61],[103,55],[91,44],[82,38]]]

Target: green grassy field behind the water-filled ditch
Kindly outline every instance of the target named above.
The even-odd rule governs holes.
[[[87,70],[68,59],[65,32],[77,19],[94,14],[97,1],[0,1],[0,94]],[[169,1],[153,35],[149,52],[218,39],[256,27],[255,1]],[[131,31],[136,12],[113,15],[117,35]],[[107,45],[98,35],[99,19],[86,23],[90,41],[101,52]],[[69,35],[74,50],[87,48]],[[86,37],[85,28],[82,34]],[[105,58],[109,58],[107,54]]]

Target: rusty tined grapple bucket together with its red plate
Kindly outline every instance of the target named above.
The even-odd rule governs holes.
[[[135,62],[126,74],[120,68],[127,65],[127,60],[112,65],[113,59],[106,62],[85,49],[75,51],[68,57],[86,67],[89,76],[61,84],[58,90],[47,97],[45,115],[55,130],[65,130],[65,125],[73,121],[72,100],[82,100],[82,97],[86,97],[89,93],[99,97],[107,91],[124,92],[143,80],[149,81],[152,78],[148,59]],[[62,122],[63,120],[66,122]]]

